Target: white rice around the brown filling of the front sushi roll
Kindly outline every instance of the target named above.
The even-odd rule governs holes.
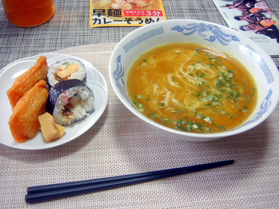
[[[73,97],[75,94],[79,95],[79,102],[74,108],[71,108],[73,115],[67,117],[66,115],[62,114],[63,110],[65,109],[64,102],[68,100],[67,98]],[[94,103],[95,100],[91,89],[87,88],[86,86],[70,88],[60,94],[57,98],[53,111],[54,120],[60,125],[68,125],[75,121],[79,121],[90,115],[93,110]]]

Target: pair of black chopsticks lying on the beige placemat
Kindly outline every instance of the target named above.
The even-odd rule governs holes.
[[[27,188],[25,201],[27,203],[44,201],[54,198],[61,198],[70,195],[83,194],[88,192],[112,189],[120,186],[126,186],[156,179],[176,176],[180,174],[197,172],[210,168],[230,165],[234,160],[226,160],[215,163],[206,163],[181,168],[172,168],[161,171],[144,172],[124,176],[113,176],[100,179],[74,181],[52,185],[32,186]]]

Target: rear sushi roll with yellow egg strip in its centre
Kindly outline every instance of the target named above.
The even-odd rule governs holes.
[[[86,83],[84,64],[77,59],[61,59],[53,63],[47,71],[47,81],[50,87],[60,81],[78,79]]]

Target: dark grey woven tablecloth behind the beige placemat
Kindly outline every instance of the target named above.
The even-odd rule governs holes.
[[[233,0],[224,0],[231,4]],[[167,19],[205,20],[227,26],[212,0],[162,0]],[[279,1],[265,0],[279,18]],[[45,24],[21,28],[5,17],[0,3],[0,69],[24,57],[73,46],[119,42],[138,27],[89,27],[89,0],[54,0],[55,14]],[[273,59],[279,66],[279,58]]]

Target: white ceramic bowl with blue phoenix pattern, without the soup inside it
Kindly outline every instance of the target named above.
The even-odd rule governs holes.
[[[126,76],[132,62],[144,51],[169,42],[194,42],[222,50],[241,61],[254,76],[259,99],[252,116],[241,126],[221,133],[188,133],[167,128],[144,116],[131,102]],[[245,132],[262,123],[279,101],[279,73],[270,56],[254,41],[222,25],[201,20],[164,20],[140,27],[124,37],[109,61],[109,78],[120,101],[157,131],[187,141],[210,141]]]

